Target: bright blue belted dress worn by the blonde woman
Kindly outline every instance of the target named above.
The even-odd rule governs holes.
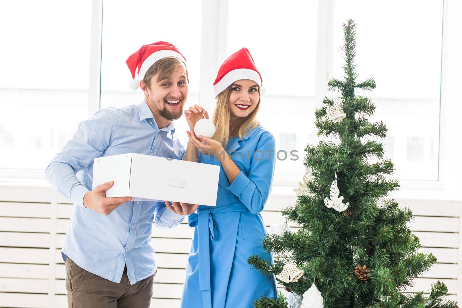
[[[276,298],[274,277],[247,264],[252,254],[273,262],[263,249],[267,233],[260,212],[271,191],[274,147],[273,135],[260,125],[243,140],[231,138],[225,150],[241,169],[231,185],[216,157],[198,153],[199,163],[220,166],[219,186],[217,205],[201,205],[188,217],[195,230],[182,308],[251,308],[261,296]]]

